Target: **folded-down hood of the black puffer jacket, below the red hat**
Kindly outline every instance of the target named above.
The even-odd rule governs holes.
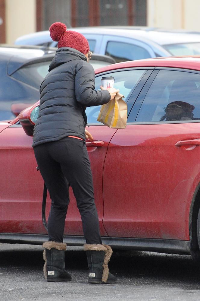
[[[82,52],[70,47],[61,47],[56,51],[55,56],[48,67],[48,71],[72,60],[83,60],[87,62],[87,58]]]

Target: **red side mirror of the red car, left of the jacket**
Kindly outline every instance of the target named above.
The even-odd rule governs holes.
[[[37,103],[35,106],[24,109],[18,116],[19,122],[28,136],[33,136],[33,128],[38,118],[38,113],[39,104]]]

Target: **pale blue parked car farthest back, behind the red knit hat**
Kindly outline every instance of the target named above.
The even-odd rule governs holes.
[[[109,55],[116,62],[200,54],[198,33],[130,26],[80,27],[70,30],[82,33],[92,52]],[[21,36],[15,44],[57,46],[48,30]]]

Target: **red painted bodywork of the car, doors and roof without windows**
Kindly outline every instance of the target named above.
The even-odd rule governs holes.
[[[98,69],[96,74],[131,67],[200,71],[200,58],[123,62]],[[36,171],[32,137],[11,123],[0,124],[0,232],[46,233],[41,218],[43,180]],[[189,142],[175,144],[200,139],[200,123],[133,123],[118,130],[96,125],[89,131],[104,142],[87,147],[101,235],[188,241],[192,197],[200,182],[200,148]],[[49,208],[48,197],[47,216]],[[83,235],[71,188],[64,234]]]

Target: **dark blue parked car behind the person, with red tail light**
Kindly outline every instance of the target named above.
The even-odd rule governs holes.
[[[0,120],[13,119],[39,99],[39,87],[57,48],[0,46]],[[94,68],[115,63],[106,55],[92,55]]]

